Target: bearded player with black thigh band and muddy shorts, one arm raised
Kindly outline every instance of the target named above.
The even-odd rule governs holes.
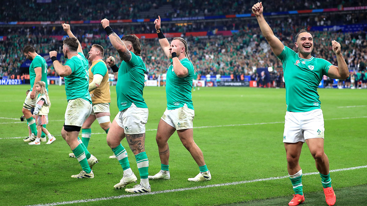
[[[83,168],[79,174],[71,177],[94,178],[94,174],[87,161],[90,158],[87,157],[90,153],[78,138],[81,126],[92,111],[92,100],[88,91],[88,60],[83,55],[83,50],[78,39],[70,31],[70,25],[62,24],[62,27],[69,35],[63,41],[62,45],[64,56],[68,59],[65,62],[65,66],[61,65],[56,59],[56,51],[50,52],[55,71],[60,77],[64,77],[65,79],[66,100],[68,101],[61,136],[66,140]]]

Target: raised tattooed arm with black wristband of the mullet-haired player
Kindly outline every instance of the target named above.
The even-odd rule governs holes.
[[[130,62],[131,53],[123,41],[121,41],[120,37],[111,29],[110,21],[108,21],[108,19],[102,19],[101,24],[103,29],[105,29],[112,46],[115,47],[117,52],[119,52],[120,58],[125,62]]]

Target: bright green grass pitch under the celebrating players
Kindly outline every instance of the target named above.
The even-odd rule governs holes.
[[[0,138],[28,135],[26,124],[17,120],[22,115],[28,88],[29,85],[1,85]],[[106,134],[92,135],[88,146],[88,150],[99,159],[93,168],[95,178],[70,178],[70,175],[79,173],[81,167],[76,159],[68,157],[71,150],[60,136],[67,104],[65,91],[63,86],[57,85],[50,85],[49,90],[52,106],[47,129],[57,140],[51,145],[41,143],[40,146],[29,146],[22,139],[0,139],[0,205],[33,205],[126,195],[124,190],[113,188],[123,172],[116,159],[108,158],[112,151],[106,144]],[[320,89],[319,94],[325,119],[325,152],[330,159],[330,169],[367,165],[367,107],[339,108],[367,105],[367,90]],[[282,143],[284,123],[220,127],[284,122],[284,89],[200,88],[192,96],[194,126],[213,126],[194,129],[194,140],[203,151],[212,180],[200,183],[187,181],[199,172],[199,168],[175,133],[168,141],[171,180],[150,181],[152,191],[287,175]],[[149,174],[155,174],[160,170],[155,129],[166,109],[166,94],[163,87],[146,87],[144,98],[149,107],[145,148],[149,158]],[[113,118],[118,112],[115,87],[111,88],[111,99]],[[6,122],[17,123],[2,124]],[[92,125],[92,133],[103,133],[97,122]],[[131,168],[138,176],[136,161],[126,140],[122,141],[122,145],[127,148]],[[306,144],[300,164],[304,173],[317,171]],[[333,172],[331,179],[335,191],[364,185],[367,184],[367,168]],[[304,176],[302,184],[305,194],[322,190],[317,174]],[[129,188],[132,186],[128,185]],[[365,187],[363,189],[366,191]],[[290,180],[285,178],[74,205],[223,205],[280,196],[284,197],[280,202],[287,205],[291,194]],[[324,203],[318,193],[306,198],[307,202]],[[356,198],[366,200],[365,196]]]

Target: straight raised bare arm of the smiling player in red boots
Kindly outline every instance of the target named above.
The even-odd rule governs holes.
[[[264,15],[262,11],[264,8],[262,7],[262,2],[258,2],[254,4],[252,7],[252,12],[255,14],[257,22],[259,23],[262,35],[264,35],[266,41],[268,41],[270,47],[272,48],[274,54],[279,56],[284,49],[283,43],[277,38],[268,23],[266,23]]]

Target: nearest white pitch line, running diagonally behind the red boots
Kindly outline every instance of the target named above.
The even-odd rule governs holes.
[[[340,172],[340,171],[355,170],[355,169],[361,169],[361,168],[367,168],[367,165],[357,166],[357,167],[352,167],[352,168],[334,169],[334,170],[330,170],[330,172]],[[305,176],[305,175],[312,175],[312,174],[319,174],[319,172],[310,172],[310,173],[305,173],[303,175]],[[148,193],[138,193],[138,194],[131,194],[131,195],[119,195],[119,196],[111,196],[111,197],[105,197],[105,198],[80,199],[80,200],[74,200],[74,201],[54,202],[54,203],[38,204],[38,205],[31,205],[31,206],[68,205],[68,204],[74,204],[74,203],[84,203],[84,202],[95,202],[95,201],[111,200],[111,199],[131,198],[131,197],[142,196],[142,195],[156,195],[156,194],[164,194],[164,193],[168,193],[168,192],[180,192],[180,191],[197,190],[197,189],[211,188],[211,187],[221,187],[221,186],[229,186],[229,185],[254,183],[254,182],[259,182],[259,181],[279,180],[279,179],[285,179],[285,178],[288,178],[288,177],[289,177],[288,175],[287,176],[279,176],[279,177],[268,177],[268,178],[255,179],[255,180],[237,181],[237,182],[232,182],[232,183],[211,184],[211,185],[205,185],[205,186],[187,187],[187,188],[179,188],[179,189],[173,189],[173,190],[161,190],[161,191],[154,191],[154,192],[148,192]],[[30,206],[30,205],[28,205],[28,206]]]

